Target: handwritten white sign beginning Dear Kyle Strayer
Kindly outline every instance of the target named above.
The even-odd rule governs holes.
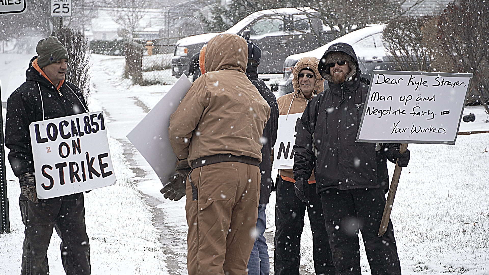
[[[374,70],[356,141],[455,144],[471,79]]]

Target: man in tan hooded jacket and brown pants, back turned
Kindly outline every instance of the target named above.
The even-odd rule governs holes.
[[[244,71],[248,46],[221,34],[205,49],[207,71],[170,118],[186,184],[189,275],[246,275],[258,215],[261,136],[270,107]]]

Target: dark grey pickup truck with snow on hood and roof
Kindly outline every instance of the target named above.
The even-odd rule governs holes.
[[[314,49],[321,43],[311,34],[311,27],[322,37],[331,37],[331,30],[325,28],[319,19],[311,17],[317,13],[309,8],[282,8],[262,10],[245,17],[223,33],[235,33],[256,43],[262,49],[262,59],[258,73],[282,73],[287,56]],[[205,33],[178,40],[172,59],[172,73],[187,76],[198,67],[192,60],[198,60],[200,48],[221,33]],[[328,40],[327,40],[328,41]]]

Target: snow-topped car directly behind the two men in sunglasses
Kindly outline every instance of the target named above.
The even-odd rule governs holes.
[[[313,56],[320,59],[331,45],[339,42],[348,43],[355,49],[360,70],[362,71],[362,77],[370,79],[374,69],[394,69],[393,63],[387,57],[382,40],[382,31],[384,27],[385,25],[383,24],[368,26],[345,34],[317,49],[288,56],[284,62],[284,81],[280,82],[278,85],[279,96],[293,92],[291,72],[299,59],[307,56]],[[327,85],[327,82],[325,85]]]

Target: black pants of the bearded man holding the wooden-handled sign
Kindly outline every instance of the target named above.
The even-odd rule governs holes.
[[[391,221],[383,237],[378,228],[385,206],[383,189],[328,189],[321,192],[326,229],[339,275],[361,275],[358,229],[372,275],[400,275]]]

